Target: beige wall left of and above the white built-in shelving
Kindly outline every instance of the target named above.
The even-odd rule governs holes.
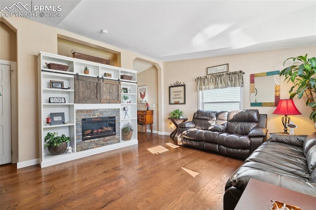
[[[37,55],[40,51],[57,54],[58,37],[72,37],[82,42],[119,52],[118,61],[122,68],[132,69],[135,58],[158,63],[162,67],[162,62],[147,56],[25,18],[0,18],[0,21],[12,26],[17,32],[18,162],[32,161],[39,158]],[[4,52],[8,50],[8,47],[6,47]]]

